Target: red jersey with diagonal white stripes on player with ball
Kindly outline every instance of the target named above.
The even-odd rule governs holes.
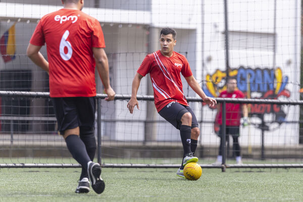
[[[186,58],[181,54],[173,52],[170,58],[163,56],[160,50],[149,54],[144,58],[137,73],[142,76],[149,73],[158,112],[172,101],[188,106],[180,73],[188,77],[192,72]]]

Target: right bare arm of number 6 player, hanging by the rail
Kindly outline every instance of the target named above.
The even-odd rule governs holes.
[[[104,85],[105,92],[108,95],[105,100],[111,101],[115,98],[116,92],[113,90],[110,84],[108,58],[104,48],[93,47],[92,52],[96,61],[96,68],[98,70],[100,79]]]

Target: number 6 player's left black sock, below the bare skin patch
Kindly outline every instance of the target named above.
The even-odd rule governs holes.
[[[69,135],[65,139],[66,145],[73,158],[81,164],[84,169],[87,169],[87,163],[90,161],[87,155],[85,144],[78,135]]]

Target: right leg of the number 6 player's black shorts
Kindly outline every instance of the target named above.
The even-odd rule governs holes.
[[[77,97],[80,130],[93,128],[96,112],[96,97]]]

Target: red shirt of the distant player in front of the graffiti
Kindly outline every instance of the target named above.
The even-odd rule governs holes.
[[[240,90],[233,92],[222,91],[219,97],[228,98],[244,98],[244,94]],[[227,126],[239,126],[241,119],[241,106],[240,104],[226,103],[226,125]],[[217,114],[217,122],[222,125],[222,104],[220,104],[221,111]]]

